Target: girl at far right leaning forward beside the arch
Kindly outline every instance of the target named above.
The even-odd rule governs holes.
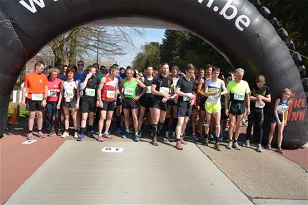
[[[270,135],[268,135],[268,145],[266,149],[271,149],[270,143],[272,143],[272,137],[274,135],[276,124],[278,124],[278,143],[276,151],[283,154],[283,150],[281,149],[281,143],[283,140],[283,128],[287,126],[287,111],[290,106],[290,96],[292,90],[289,88],[285,88],[283,90],[281,98],[278,98],[275,102],[274,114],[270,119]]]

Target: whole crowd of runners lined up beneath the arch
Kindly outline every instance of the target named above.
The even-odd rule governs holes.
[[[116,121],[116,133],[127,138],[130,137],[130,119],[132,119],[135,131],[133,140],[138,142],[145,128],[146,116],[146,120],[151,124],[151,143],[154,146],[159,145],[158,141],[163,142],[173,138],[176,141],[175,147],[182,150],[183,144],[186,144],[185,128],[190,121],[194,141],[202,141],[205,146],[209,146],[209,138],[214,139],[214,148],[220,151],[219,142],[222,138],[228,138],[227,148],[240,150],[238,137],[246,113],[248,126],[243,146],[250,146],[252,126],[255,124],[257,151],[262,152],[264,106],[271,101],[270,88],[265,85],[266,79],[262,75],[249,87],[248,83],[242,80],[244,77],[242,68],[235,70],[233,79],[231,74],[224,77],[220,68],[211,64],[208,64],[206,69],[199,70],[193,64],[188,64],[185,72],[180,73],[178,66],[172,66],[170,70],[168,63],[164,63],[159,66],[157,74],[153,66],[147,66],[142,77],[136,77],[136,70],[131,67],[118,68],[116,64],[105,74],[99,72],[98,64],[88,66],[85,71],[83,61],[77,63],[77,68],[66,68],[65,71],[61,70],[62,72],[57,68],[51,68],[48,70],[48,78],[42,73],[43,69],[44,63],[38,61],[34,71],[25,76],[22,104],[26,105],[27,98],[29,107],[27,139],[33,139],[35,116],[38,118],[38,137],[44,137],[42,108],[47,107],[47,120],[51,128],[49,135],[68,137],[71,115],[75,129],[73,137],[77,141],[83,140],[86,135],[94,138],[95,118],[99,119],[98,141],[103,141],[104,137],[112,138],[110,125],[113,118]],[[278,124],[277,152],[281,153],[282,133],[287,124],[290,94],[290,89],[283,90],[282,97],[275,103],[266,146],[271,148],[274,128]],[[64,116],[63,133],[60,131],[61,115]],[[227,132],[225,130],[228,118]],[[124,131],[121,129],[123,119]]]

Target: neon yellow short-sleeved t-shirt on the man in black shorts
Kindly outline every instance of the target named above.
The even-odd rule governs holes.
[[[227,85],[227,92],[230,94],[231,100],[240,100],[245,99],[245,94],[250,93],[251,89],[246,81],[240,81],[237,83],[235,81],[230,81]]]

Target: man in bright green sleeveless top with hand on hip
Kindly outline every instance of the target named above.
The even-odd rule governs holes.
[[[146,85],[144,85],[140,80],[133,78],[133,74],[133,70],[128,68],[126,70],[127,79],[122,81],[120,85],[120,95],[123,99],[122,105],[126,128],[126,131],[122,137],[129,137],[129,110],[131,110],[131,115],[133,117],[133,128],[135,128],[134,141],[138,142],[140,140],[138,135],[138,100],[140,99],[140,95],[136,95],[136,89],[139,86],[144,89],[144,92],[146,92]]]

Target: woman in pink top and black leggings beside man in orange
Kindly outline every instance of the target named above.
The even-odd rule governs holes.
[[[47,96],[47,120],[51,128],[50,136],[57,134],[61,136],[60,132],[60,109],[57,109],[57,101],[59,100],[61,79],[58,79],[60,71],[57,68],[49,69],[48,80],[48,96]]]

